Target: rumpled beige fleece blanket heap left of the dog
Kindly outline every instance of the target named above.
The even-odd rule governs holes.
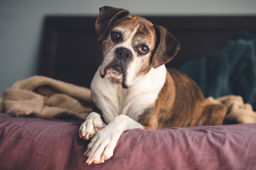
[[[0,101],[1,102],[1,101]],[[6,89],[0,112],[13,117],[72,117],[92,111],[90,89],[44,76],[33,76]]]

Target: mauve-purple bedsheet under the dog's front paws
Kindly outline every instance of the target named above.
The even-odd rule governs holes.
[[[87,165],[81,123],[0,114],[0,169],[256,169],[256,124],[133,129]]]

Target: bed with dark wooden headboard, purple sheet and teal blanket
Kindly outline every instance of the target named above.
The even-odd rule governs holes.
[[[145,18],[180,41],[166,67],[190,75],[205,97],[239,95],[256,110],[256,17]],[[47,16],[38,74],[89,88],[102,56],[95,20]],[[113,157],[87,165],[82,122],[1,113],[0,169],[256,169],[256,124],[133,129]]]

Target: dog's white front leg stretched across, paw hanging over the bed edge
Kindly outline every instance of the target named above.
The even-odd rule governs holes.
[[[103,163],[113,155],[116,143],[124,131],[135,128],[143,129],[143,126],[128,116],[115,117],[104,129],[96,133],[84,153],[88,159],[86,163]]]

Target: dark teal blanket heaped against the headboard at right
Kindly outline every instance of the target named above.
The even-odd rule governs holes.
[[[242,96],[256,110],[255,35],[237,32],[225,48],[188,62],[180,70],[196,81],[205,97]]]

